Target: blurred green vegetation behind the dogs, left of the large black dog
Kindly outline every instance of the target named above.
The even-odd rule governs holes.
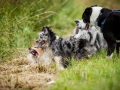
[[[13,59],[19,50],[35,45],[38,32],[50,26],[58,36],[73,32],[83,11],[72,0],[1,0],[0,61]],[[12,57],[11,57],[12,56]]]

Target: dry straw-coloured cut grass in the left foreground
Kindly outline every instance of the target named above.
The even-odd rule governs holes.
[[[56,77],[54,66],[28,65],[19,58],[0,65],[0,90],[44,89]]]

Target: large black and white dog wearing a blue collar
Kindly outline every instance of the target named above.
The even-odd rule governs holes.
[[[120,11],[111,10],[99,6],[87,7],[82,14],[84,23],[95,25],[101,28],[103,36],[108,44],[107,56],[113,56],[116,47],[117,54],[119,53],[120,40]]]

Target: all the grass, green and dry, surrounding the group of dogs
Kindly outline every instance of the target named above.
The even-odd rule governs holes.
[[[87,6],[98,4],[119,9],[119,2],[120,0],[1,0],[0,89],[119,90],[119,57],[114,55],[113,59],[108,60],[105,51],[89,60],[78,62],[73,59],[72,66],[61,72],[54,66],[30,66],[23,59],[28,54],[27,48],[35,45],[37,34],[43,26],[50,26],[58,36],[68,36],[75,27],[74,20],[81,19]],[[46,85],[52,79],[56,83]]]

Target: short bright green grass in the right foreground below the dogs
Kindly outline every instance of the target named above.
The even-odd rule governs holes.
[[[73,61],[50,90],[119,90],[120,60],[105,59],[105,52],[89,60]]]

